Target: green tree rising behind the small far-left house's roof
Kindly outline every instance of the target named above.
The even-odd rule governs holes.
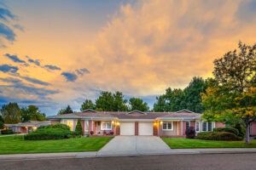
[[[25,108],[21,109],[21,121],[45,121],[46,117],[44,113],[39,111],[36,105],[28,105]]]

